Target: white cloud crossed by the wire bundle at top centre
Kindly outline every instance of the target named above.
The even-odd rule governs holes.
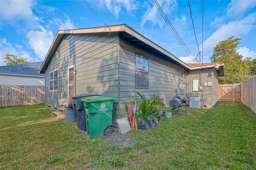
[[[170,13],[175,10],[178,6],[176,0],[163,0],[158,2],[159,5],[163,8],[165,14]],[[141,18],[141,25],[143,26],[147,22],[152,22],[154,25],[163,26],[163,19],[161,14],[158,13],[156,6],[152,3],[152,5],[148,5],[147,11]]]

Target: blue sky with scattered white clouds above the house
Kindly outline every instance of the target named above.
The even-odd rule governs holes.
[[[87,1],[107,25],[127,24],[186,63],[193,60],[175,39],[151,0]],[[198,53],[188,1],[158,0],[190,51]],[[199,49],[210,62],[213,47],[230,36],[242,38],[238,52],[256,58],[256,1],[190,0]],[[103,26],[84,1],[0,1],[0,65],[6,53],[43,61],[60,29]],[[203,35],[203,39],[202,39]]]

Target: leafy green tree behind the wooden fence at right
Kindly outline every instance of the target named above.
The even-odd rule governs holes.
[[[243,60],[243,56],[237,52],[241,39],[231,36],[213,48],[211,61],[225,63],[225,77],[219,78],[221,84],[240,83],[250,78],[248,58]]]

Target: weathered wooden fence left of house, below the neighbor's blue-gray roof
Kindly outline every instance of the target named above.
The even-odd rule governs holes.
[[[0,107],[44,103],[44,86],[0,85]]]

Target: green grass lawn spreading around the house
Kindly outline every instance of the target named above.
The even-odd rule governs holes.
[[[130,147],[82,137],[43,105],[0,108],[0,169],[256,169],[256,116],[241,103],[190,109],[132,131]]]

